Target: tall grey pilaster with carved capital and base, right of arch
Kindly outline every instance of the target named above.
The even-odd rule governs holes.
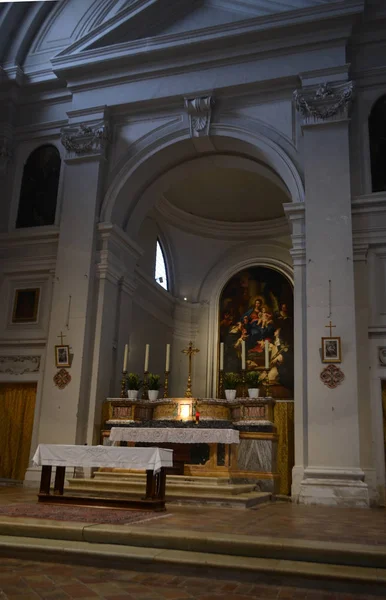
[[[299,502],[368,506],[360,467],[357,338],[348,111],[353,86],[339,76],[330,84],[307,85],[295,93],[303,122],[306,188],[306,377],[307,465]],[[321,338],[342,342],[344,380],[327,387],[321,372]]]

